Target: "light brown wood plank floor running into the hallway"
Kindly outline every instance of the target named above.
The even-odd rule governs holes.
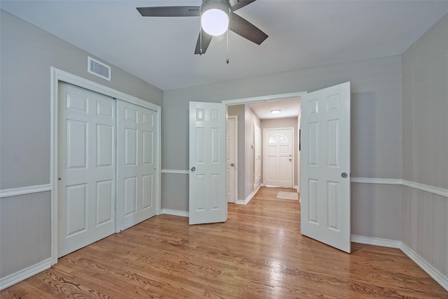
[[[262,188],[224,224],[153,217],[59,259],[0,298],[448,298],[398,249],[345,254],[300,235],[298,200]]]

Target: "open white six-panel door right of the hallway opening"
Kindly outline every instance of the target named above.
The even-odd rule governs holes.
[[[350,82],[302,96],[302,235],[350,252]]]

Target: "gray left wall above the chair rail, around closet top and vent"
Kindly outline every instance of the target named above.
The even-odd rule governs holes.
[[[51,66],[162,106],[162,90],[114,66],[110,82],[91,75],[87,52],[3,10],[0,17],[1,189],[50,182]]]

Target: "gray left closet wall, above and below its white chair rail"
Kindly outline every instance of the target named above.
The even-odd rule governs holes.
[[[87,52],[3,10],[0,30],[2,190],[50,183],[50,66],[162,106],[162,90],[115,66],[111,82],[90,75]],[[50,258],[50,203],[50,192],[0,198],[0,278]]]

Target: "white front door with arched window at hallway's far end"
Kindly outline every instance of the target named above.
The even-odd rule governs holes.
[[[265,185],[293,188],[293,129],[265,129]]]

